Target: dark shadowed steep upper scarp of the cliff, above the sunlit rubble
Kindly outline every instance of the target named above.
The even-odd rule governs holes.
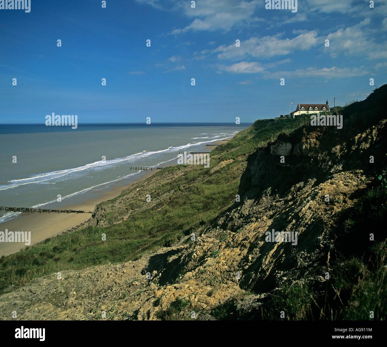
[[[238,193],[256,199],[271,187],[272,195],[280,197],[309,179],[322,183],[335,173],[356,169],[370,173],[380,168],[385,160],[384,120],[363,129],[356,126],[355,117],[344,116],[343,121],[343,129],[308,126],[280,135],[258,150],[248,159]]]

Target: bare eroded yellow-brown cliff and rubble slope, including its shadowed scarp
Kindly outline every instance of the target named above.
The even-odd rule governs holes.
[[[250,155],[240,202],[192,230],[194,237],[134,262],[64,271],[62,281],[39,278],[2,295],[0,312],[22,295],[25,300],[12,307],[24,312],[23,319],[33,319],[39,309],[46,319],[101,319],[101,311],[112,319],[156,319],[176,298],[184,298],[188,316],[183,310],[181,319],[191,311],[200,312],[198,319],[211,319],[214,307],[235,299],[240,316],[248,319],[256,318],[276,288],[298,281],[318,287],[326,281],[330,257],[345,247],[339,240],[353,244],[341,212],[351,211],[386,164],[387,124],[379,105],[387,88],[382,88],[344,113],[342,129],[307,125]],[[163,179],[178,179],[174,175]],[[131,194],[123,192],[108,207],[97,207],[92,225],[110,224],[107,211],[123,206],[120,216],[128,216],[136,190]],[[296,244],[267,242],[273,229],[297,235]],[[354,237],[357,245],[370,245],[368,231]]]

